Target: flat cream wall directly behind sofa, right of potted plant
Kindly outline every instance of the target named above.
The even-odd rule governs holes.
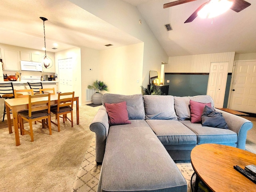
[[[143,47],[144,43],[139,43],[100,51],[98,80],[109,86],[110,93],[141,93]]]

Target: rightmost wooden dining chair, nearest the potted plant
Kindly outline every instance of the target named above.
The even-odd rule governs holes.
[[[57,105],[51,106],[51,112],[54,113],[57,117],[57,123],[52,123],[58,126],[58,132],[60,132],[60,118],[63,118],[63,123],[69,120],[71,122],[71,127],[73,127],[73,103],[74,103],[74,94],[75,92],[67,93],[58,93],[58,102]],[[67,117],[67,114],[70,113],[71,119]],[[63,115],[61,117],[61,115]]]

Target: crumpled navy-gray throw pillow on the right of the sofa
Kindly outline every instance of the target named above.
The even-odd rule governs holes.
[[[204,126],[228,129],[227,122],[222,116],[222,113],[216,112],[215,109],[210,108],[207,105],[204,107],[201,118],[202,125]]]

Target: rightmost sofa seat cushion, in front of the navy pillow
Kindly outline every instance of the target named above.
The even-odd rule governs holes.
[[[197,135],[197,144],[235,144],[237,142],[237,134],[232,130],[202,126],[202,124],[194,124],[188,120],[180,122],[190,128],[190,130],[192,130]]]

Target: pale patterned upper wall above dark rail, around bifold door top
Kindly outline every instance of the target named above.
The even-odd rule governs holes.
[[[232,73],[235,52],[169,57],[165,73],[209,73],[211,62],[228,62]]]

